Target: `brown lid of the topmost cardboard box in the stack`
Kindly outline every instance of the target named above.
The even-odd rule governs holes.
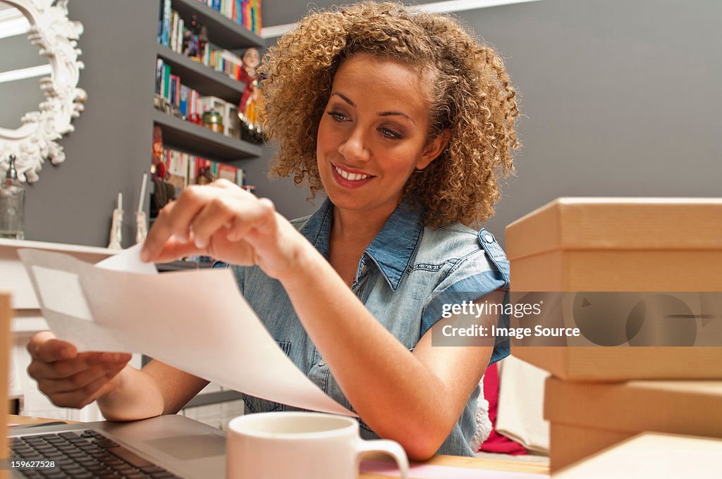
[[[506,227],[510,260],[611,249],[721,250],[722,198],[557,198]]]

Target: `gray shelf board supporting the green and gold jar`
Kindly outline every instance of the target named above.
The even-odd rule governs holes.
[[[261,147],[247,141],[210,131],[155,109],[152,118],[153,123],[162,130],[163,144],[170,147],[175,146],[199,157],[227,163],[261,157]]]

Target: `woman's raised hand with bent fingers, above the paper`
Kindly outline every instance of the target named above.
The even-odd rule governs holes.
[[[208,255],[235,265],[257,264],[271,278],[295,271],[305,239],[267,198],[227,180],[191,185],[158,214],[143,245],[144,261]]]

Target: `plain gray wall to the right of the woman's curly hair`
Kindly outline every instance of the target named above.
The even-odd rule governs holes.
[[[290,22],[283,12],[305,4],[266,0],[264,20]],[[722,2],[544,0],[458,16],[521,92],[518,173],[486,225],[497,237],[559,196],[722,196]]]

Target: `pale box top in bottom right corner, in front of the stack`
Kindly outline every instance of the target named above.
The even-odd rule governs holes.
[[[714,478],[720,457],[720,439],[646,433],[565,467],[554,478]]]

